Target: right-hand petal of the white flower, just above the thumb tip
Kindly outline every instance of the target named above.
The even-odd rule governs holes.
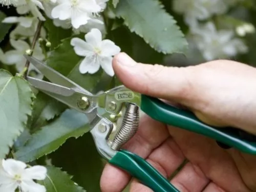
[[[102,40],[101,43],[101,54],[104,57],[109,57],[119,53],[121,49],[114,44],[113,41],[109,39]]]

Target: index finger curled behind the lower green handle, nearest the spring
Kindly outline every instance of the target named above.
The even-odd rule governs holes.
[[[143,116],[136,135],[125,144],[124,149],[147,158],[151,152],[161,145],[169,134],[166,126],[160,122]],[[100,187],[102,192],[119,192],[129,183],[131,177],[123,170],[106,165],[101,175]]]

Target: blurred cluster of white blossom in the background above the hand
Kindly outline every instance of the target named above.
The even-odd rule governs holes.
[[[254,32],[252,25],[218,29],[212,16],[223,15],[229,8],[244,0],[174,0],[173,8],[184,15],[189,34],[205,60],[227,58],[246,53],[247,47],[238,37]],[[237,32],[237,34],[236,34]],[[192,43],[192,42],[191,42]]]

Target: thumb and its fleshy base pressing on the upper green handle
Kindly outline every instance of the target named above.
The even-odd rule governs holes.
[[[125,53],[113,68],[129,89],[187,106],[207,124],[232,126],[256,135],[256,69],[216,60],[190,67],[136,63]]]

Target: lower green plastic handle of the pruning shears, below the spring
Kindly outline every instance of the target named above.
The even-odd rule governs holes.
[[[124,150],[117,152],[110,163],[130,173],[155,192],[179,192],[151,164],[131,152]]]

